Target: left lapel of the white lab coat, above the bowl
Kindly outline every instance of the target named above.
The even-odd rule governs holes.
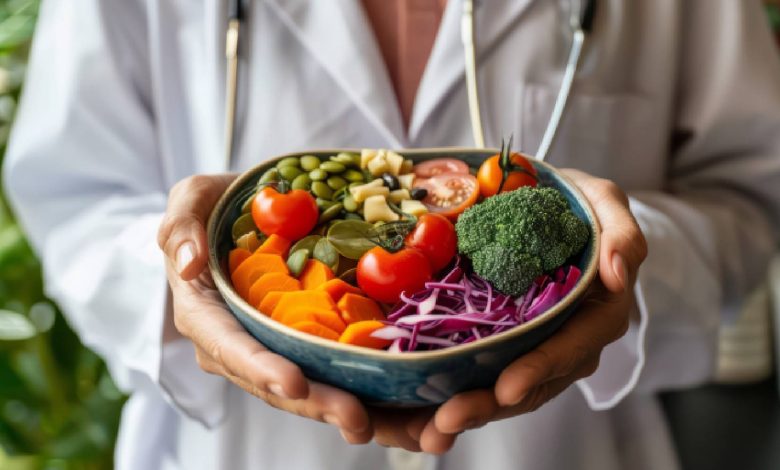
[[[359,0],[267,0],[390,147],[406,133],[387,69]]]

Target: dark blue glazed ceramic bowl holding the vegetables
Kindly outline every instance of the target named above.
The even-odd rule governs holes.
[[[298,364],[312,380],[350,391],[367,403],[404,407],[439,404],[458,392],[492,387],[509,363],[547,339],[566,321],[597,274],[600,229],[590,205],[568,178],[550,165],[533,160],[540,180],[564,194],[573,211],[588,224],[591,233],[587,246],[576,260],[582,277],[572,292],[546,313],[509,331],[473,343],[438,351],[402,354],[328,341],[282,325],[241,299],[230,283],[226,259],[233,245],[232,223],[241,212],[242,201],[254,191],[257,180],[279,159],[302,155],[327,157],[341,151],[354,150],[331,149],[283,155],[252,168],[227,189],[208,223],[209,268],[228,307],[258,341]],[[430,149],[399,153],[415,162],[455,157],[476,168],[497,150]]]

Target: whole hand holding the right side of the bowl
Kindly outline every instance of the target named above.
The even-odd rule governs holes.
[[[634,305],[632,286],[647,256],[644,236],[617,185],[576,170],[563,173],[588,198],[602,229],[599,279],[577,313],[550,339],[504,369],[493,390],[460,393],[438,409],[371,410],[378,443],[444,453],[461,432],[534,411],[592,375],[604,347],[625,334]]]

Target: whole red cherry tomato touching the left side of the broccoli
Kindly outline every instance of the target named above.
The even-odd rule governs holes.
[[[433,272],[447,266],[458,251],[455,226],[441,214],[423,214],[414,230],[406,236],[406,246],[422,251],[431,263]]]

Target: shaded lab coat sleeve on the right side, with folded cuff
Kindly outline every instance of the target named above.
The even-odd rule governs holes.
[[[685,4],[664,192],[630,192],[649,254],[628,334],[578,384],[594,409],[712,378],[718,330],[765,276],[780,222],[780,61],[757,0]]]

